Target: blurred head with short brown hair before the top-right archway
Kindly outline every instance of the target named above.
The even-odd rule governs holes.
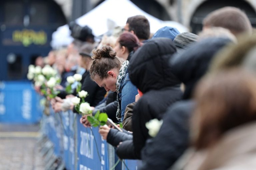
[[[242,33],[252,34],[252,25],[246,14],[236,7],[223,7],[206,16],[203,29],[223,27],[236,37]]]

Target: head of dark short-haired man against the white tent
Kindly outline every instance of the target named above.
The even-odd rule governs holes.
[[[123,31],[135,34],[140,42],[145,42],[150,36],[150,25],[148,19],[143,15],[129,17]]]

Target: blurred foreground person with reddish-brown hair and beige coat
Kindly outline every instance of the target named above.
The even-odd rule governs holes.
[[[201,80],[190,128],[193,148],[172,169],[254,170],[255,87],[255,75],[239,69],[209,74]]]

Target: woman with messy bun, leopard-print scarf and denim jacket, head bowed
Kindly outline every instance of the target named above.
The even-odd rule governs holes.
[[[90,68],[91,79],[100,87],[118,93],[118,109],[116,118],[119,122],[124,119],[125,108],[135,101],[137,88],[131,83],[128,73],[129,61],[122,61],[110,46],[93,51],[93,61]]]

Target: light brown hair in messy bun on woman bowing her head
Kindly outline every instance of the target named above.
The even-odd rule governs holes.
[[[101,48],[93,50],[93,61],[90,68],[91,79],[94,80],[95,76],[100,79],[108,77],[108,71],[117,68],[121,68],[121,62],[116,56],[116,52],[111,46],[103,46]]]

